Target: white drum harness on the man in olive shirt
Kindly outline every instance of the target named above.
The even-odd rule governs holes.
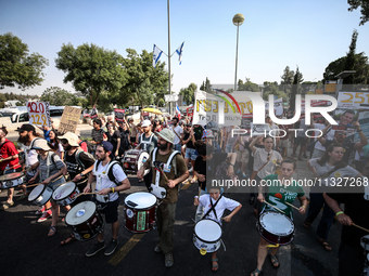
[[[149,192],[151,194],[153,194],[154,196],[156,196],[158,199],[163,200],[166,197],[166,188],[160,186],[161,174],[162,173],[164,174],[165,172],[170,172],[170,169],[171,169],[170,163],[171,163],[173,159],[175,158],[175,156],[177,154],[179,154],[179,152],[174,150],[165,165],[155,160],[156,154],[157,154],[157,147],[155,147],[152,150],[152,167],[153,167],[154,170],[156,170],[155,184],[153,184],[153,183],[151,184]],[[163,166],[163,165],[164,165],[164,169],[162,170],[161,166]],[[177,166],[176,166],[175,162],[173,165],[173,169],[175,170],[175,175],[177,176]],[[166,175],[164,174],[164,176],[166,176]],[[160,201],[158,205],[161,205],[162,202],[163,201]]]

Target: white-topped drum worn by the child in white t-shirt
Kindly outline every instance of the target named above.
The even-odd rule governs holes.
[[[201,220],[194,225],[193,245],[200,252],[212,253],[219,249],[221,226],[213,220]]]

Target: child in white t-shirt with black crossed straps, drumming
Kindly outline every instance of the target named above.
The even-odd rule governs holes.
[[[220,225],[221,220],[224,220],[225,222],[230,222],[232,216],[242,208],[242,205],[240,202],[220,195],[219,187],[209,188],[208,195],[202,195],[200,196],[200,198],[195,196],[193,205],[201,205],[205,208],[205,215],[203,216],[203,219],[211,219],[213,221],[216,221]],[[226,209],[231,211],[231,213],[226,215],[225,218],[221,218]],[[215,251],[212,254],[212,272],[217,272],[219,270],[217,252],[218,251]]]

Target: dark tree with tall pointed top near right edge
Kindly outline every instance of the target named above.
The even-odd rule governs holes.
[[[356,41],[358,32],[353,31],[352,41],[346,56],[342,56],[331,62],[325,73],[323,80],[336,80],[336,75],[343,70],[355,70],[356,73],[343,79],[344,84],[367,84],[369,79],[368,56],[364,52],[356,53]]]

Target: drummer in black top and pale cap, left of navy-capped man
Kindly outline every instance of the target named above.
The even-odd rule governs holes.
[[[64,162],[66,166],[66,171],[69,174],[71,180],[77,183],[79,192],[82,192],[87,185],[88,175],[93,169],[94,158],[92,155],[85,153],[79,148],[79,139],[77,134],[66,132],[59,139],[65,150]],[[76,201],[73,202],[73,206],[86,200],[91,200],[91,196],[79,196]],[[76,239],[73,234],[71,234],[65,240],[61,242],[61,245],[65,246],[74,240]]]

